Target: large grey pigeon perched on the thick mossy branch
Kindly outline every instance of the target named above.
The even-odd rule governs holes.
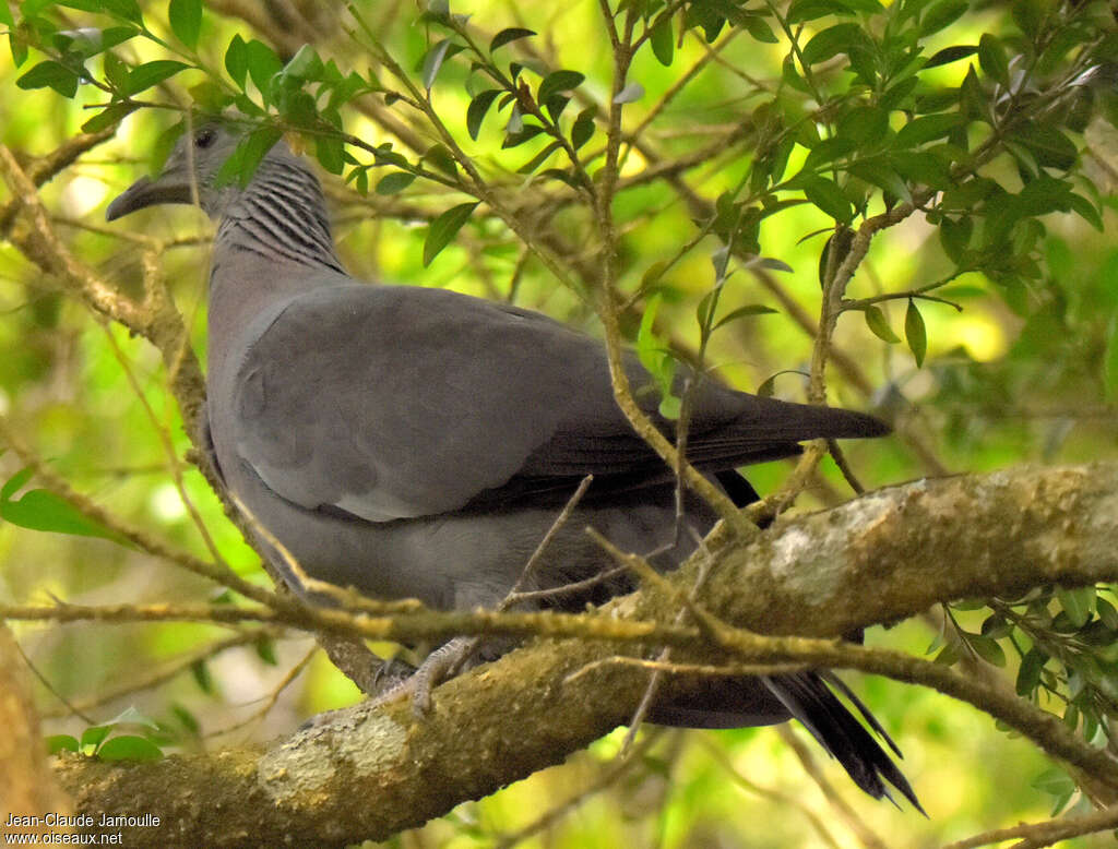
[[[520,578],[558,509],[594,480],[534,570],[550,589],[613,564],[584,533],[655,551],[671,569],[695,547],[676,533],[675,484],[614,401],[600,342],[539,313],[453,292],[359,283],[334,252],[318,179],[283,143],[246,188],[217,187],[238,134],[208,123],[186,134],[154,180],[110,204],[108,220],[157,203],[197,202],[218,219],[210,269],[207,426],[225,486],[313,578],[376,599],[434,608],[493,607]],[[634,357],[626,369],[657,427],[659,395]],[[735,470],[800,451],[800,440],[877,437],[888,427],[847,410],[735,392],[703,380],[694,393],[688,457],[739,505],[757,495]],[[705,533],[713,512],[685,502]],[[265,540],[260,548],[296,591]],[[628,578],[589,594],[556,595],[579,609],[633,589]],[[917,809],[908,781],[825,671],[710,685],[656,704],[650,718],[693,727],[799,719],[862,790]],[[897,752],[899,755],[900,753]]]

